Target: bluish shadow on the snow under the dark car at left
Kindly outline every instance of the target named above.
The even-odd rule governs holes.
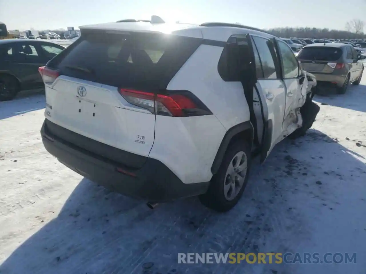
[[[44,109],[45,106],[44,90],[22,91],[15,99],[0,102],[0,120]]]

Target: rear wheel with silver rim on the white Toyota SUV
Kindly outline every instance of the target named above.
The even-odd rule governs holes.
[[[199,195],[201,203],[217,212],[232,209],[247,185],[250,164],[250,145],[247,142],[235,141],[229,145],[219,171],[211,179],[208,191]]]

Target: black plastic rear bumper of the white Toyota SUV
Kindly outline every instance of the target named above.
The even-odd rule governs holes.
[[[203,194],[208,189],[209,182],[183,183],[156,159],[146,158],[141,168],[128,168],[86,151],[52,134],[46,121],[41,136],[46,150],[61,163],[91,181],[129,197],[159,203]]]

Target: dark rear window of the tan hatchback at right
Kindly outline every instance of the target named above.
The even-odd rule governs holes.
[[[342,56],[342,49],[337,47],[304,47],[297,58],[302,60],[336,61]]]

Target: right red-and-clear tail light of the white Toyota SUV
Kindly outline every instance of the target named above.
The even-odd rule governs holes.
[[[130,104],[149,110],[153,114],[187,117],[209,115],[212,112],[189,91],[167,91],[154,94],[122,88],[119,93]]]

